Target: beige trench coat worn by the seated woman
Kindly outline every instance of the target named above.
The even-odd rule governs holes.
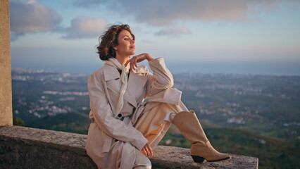
[[[104,65],[88,78],[89,118],[93,123],[89,126],[86,149],[98,168],[132,168],[136,149],[141,150],[147,142],[151,147],[156,146],[170,127],[170,122],[165,121],[168,117],[161,116],[159,121],[165,123],[149,129],[156,132],[155,137],[150,139],[135,126],[143,127],[145,120],[151,120],[144,118],[140,121],[142,114],[160,103],[181,104],[181,92],[170,88],[173,86],[173,76],[163,58],[149,61],[149,65],[153,74],[145,65],[139,66],[137,73],[130,73],[124,106],[116,118],[113,112],[121,87],[118,70],[111,65]],[[147,97],[147,102],[143,102]]]

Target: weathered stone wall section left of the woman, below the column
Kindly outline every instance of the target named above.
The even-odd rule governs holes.
[[[0,127],[0,168],[96,168],[87,136],[30,127]]]

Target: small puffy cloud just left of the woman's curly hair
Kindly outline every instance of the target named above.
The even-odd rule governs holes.
[[[63,39],[99,37],[108,23],[102,18],[78,17],[71,20],[70,27],[64,28]]]

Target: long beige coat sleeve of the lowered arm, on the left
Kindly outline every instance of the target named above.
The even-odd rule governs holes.
[[[87,80],[90,107],[95,123],[108,136],[123,142],[130,142],[137,149],[141,150],[148,140],[135,127],[126,125],[123,121],[113,117],[113,112],[104,90],[103,79],[101,79],[103,74],[102,76],[100,74],[101,71],[92,73]]]

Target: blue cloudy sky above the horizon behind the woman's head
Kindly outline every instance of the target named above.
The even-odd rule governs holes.
[[[299,0],[11,0],[13,68],[92,73],[95,46],[127,23],[137,54],[173,72],[300,75]]]

